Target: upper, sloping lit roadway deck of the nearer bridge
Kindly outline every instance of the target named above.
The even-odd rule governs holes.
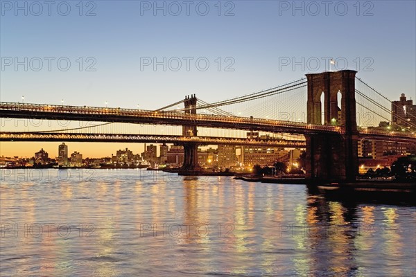
[[[36,118],[49,120],[80,120],[119,123],[144,123],[150,125],[196,125],[224,129],[285,132],[289,134],[343,134],[343,128],[331,125],[312,125],[284,120],[184,114],[178,112],[147,111],[111,107],[86,107],[43,105],[17,102],[0,102],[1,118]],[[359,131],[365,139],[415,142],[416,134],[410,132]]]

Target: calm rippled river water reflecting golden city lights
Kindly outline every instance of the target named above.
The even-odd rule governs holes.
[[[415,276],[416,209],[146,170],[1,170],[1,276]]]

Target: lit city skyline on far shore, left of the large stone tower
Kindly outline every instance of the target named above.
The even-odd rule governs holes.
[[[259,133],[255,133],[258,136]],[[287,163],[288,168],[298,166],[298,159],[304,152],[302,148],[281,148],[270,146],[217,145],[216,148],[198,148],[198,164],[205,169],[251,171],[257,165],[274,166],[275,163]],[[0,166],[6,168],[180,168],[185,160],[185,151],[180,145],[146,144],[146,150],[135,154],[128,148],[119,149],[107,157],[85,157],[83,153],[73,151],[69,145],[58,145],[58,157],[49,155],[41,148],[30,158],[1,157]]]

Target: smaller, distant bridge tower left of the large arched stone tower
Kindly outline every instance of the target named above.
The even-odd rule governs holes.
[[[196,114],[196,102],[197,98],[195,94],[185,96],[185,114]],[[183,136],[196,136],[196,125],[182,126]],[[198,175],[202,168],[198,165],[198,144],[197,143],[185,143],[184,145],[184,163],[180,168],[180,175]]]

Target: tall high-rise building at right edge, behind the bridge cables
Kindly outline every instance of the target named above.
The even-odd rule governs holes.
[[[416,105],[413,105],[413,100],[407,100],[404,93],[401,93],[399,101],[392,101],[392,124],[416,129]]]

